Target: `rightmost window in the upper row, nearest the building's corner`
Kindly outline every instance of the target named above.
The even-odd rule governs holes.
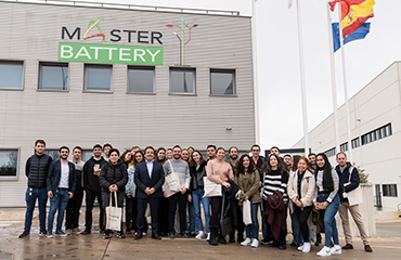
[[[235,95],[235,70],[210,69],[210,94]]]

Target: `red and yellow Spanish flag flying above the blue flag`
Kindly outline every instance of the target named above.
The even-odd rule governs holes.
[[[332,11],[334,11],[337,2],[341,3],[341,25],[344,37],[355,31],[366,22],[366,20],[374,16],[374,0],[334,0],[329,2]]]

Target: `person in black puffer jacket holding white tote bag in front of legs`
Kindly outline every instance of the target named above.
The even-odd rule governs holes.
[[[102,188],[102,200],[103,200],[103,210],[105,211],[106,207],[111,206],[109,197],[112,193],[117,194],[117,205],[115,207],[124,207],[124,196],[125,196],[125,186],[128,181],[127,167],[119,159],[119,151],[112,148],[108,153],[109,160],[102,166],[101,173],[99,177],[99,183]],[[112,204],[115,204],[115,199],[112,198]],[[107,219],[104,216],[104,223]],[[121,229],[117,232],[118,238],[126,238],[122,229],[122,218],[121,218]],[[105,230],[103,238],[109,238],[109,230]]]

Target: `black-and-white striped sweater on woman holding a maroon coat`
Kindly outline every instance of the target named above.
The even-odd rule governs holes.
[[[286,171],[283,172],[283,176],[280,174],[279,170],[266,173],[263,181],[263,199],[267,200],[269,195],[273,195],[275,191],[279,191],[283,195],[284,203],[287,204],[287,182],[288,173]]]

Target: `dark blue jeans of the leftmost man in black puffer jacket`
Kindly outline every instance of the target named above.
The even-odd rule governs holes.
[[[33,216],[35,210],[36,198],[39,203],[39,223],[40,231],[46,231],[46,204],[48,203],[48,192],[46,187],[28,187],[25,193],[26,202],[26,213],[25,213],[25,224],[24,230],[30,231],[33,224]]]

